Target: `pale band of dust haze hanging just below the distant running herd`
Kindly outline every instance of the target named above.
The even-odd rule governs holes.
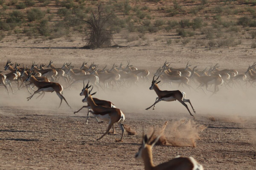
[[[170,118],[172,114],[183,114],[185,117],[189,116],[189,112],[186,108],[181,105],[179,102],[164,102],[161,101],[157,103],[155,110],[152,108],[149,111],[145,111],[145,108],[149,107],[155,102],[157,95],[154,90],[149,90],[151,85],[151,79],[147,82],[139,82],[139,85],[132,86],[131,88],[113,88],[113,90],[103,91],[101,88],[94,88],[93,91],[97,91],[97,94],[93,97],[111,101],[117,108],[120,108],[124,113],[125,112],[135,112],[143,114],[152,114],[157,113],[158,116],[169,114]],[[36,99],[39,94],[35,94],[30,101],[27,101],[26,97],[30,96],[26,88],[17,90],[17,85],[13,83],[13,88],[15,94],[12,94],[11,89],[9,88],[9,93],[11,97],[7,96],[3,85],[0,85],[0,90],[2,91],[2,96],[0,98],[1,106],[12,106],[12,107],[23,107],[24,109],[31,110],[50,110],[54,113],[73,113],[78,110],[81,106],[86,103],[82,103],[81,100],[83,96],[79,96],[81,89],[83,87],[82,82],[77,83],[71,90],[68,88],[65,89],[65,83],[61,82],[61,85],[64,86],[63,95],[69,102],[72,109],[67,107],[65,102],[62,102],[61,108],[58,109],[60,99],[58,96],[53,93],[46,93],[43,99]],[[192,86],[196,88],[196,85]],[[213,88],[213,87],[212,87]],[[207,94],[201,89],[196,91],[188,88],[180,87],[173,85],[173,87],[167,87],[166,85],[161,85],[161,90],[177,90],[183,91],[186,93],[186,99],[190,99],[193,107],[196,110],[196,114],[206,115],[206,116],[226,116],[223,120],[225,122],[230,119],[235,119],[241,116],[254,116],[255,109],[254,103],[256,102],[255,96],[256,91],[252,87],[245,88],[225,88],[224,85],[220,87],[220,91],[217,94],[212,95],[212,92],[207,91]],[[211,89],[212,90],[212,89]],[[212,95],[212,96],[211,96]],[[192,108],[189,106],[189,110],[192,112]],[[81,114],[77,113],[77,114]],[[242,118],[241,122],[244,122],[247,118]],[[236,121],[236,120],[235,120]],[[231,121],[232,122],[232,121]],[[239,122],[239,118],[236,122]]]

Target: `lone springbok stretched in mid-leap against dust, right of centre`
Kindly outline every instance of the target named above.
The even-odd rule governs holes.
[[[152,81],[152,84],[149,89],[154,90],[158,97],[156,98],[156,102],[154,102],[154,104],[151,105],[150,107],[146,108],[146,110],[150,109],[152,106],[154,106],[153,107],[153,110],[154,110],[155,105],[162,100],[166,101],[166,102],[172,102],[172,101],[178,100],[182,105],[184,105],[187,108],[188,111],[189,111],[189,108],[185,102],[189,102],[189,104],[191,105],[191,107],[195,113],[195,109],[193,108],[190,100],[185,99],[185,97],[186,97],[185,92],[181,92],[178,90],[177,91],[161,91],[157,85],[159,82],[161,82],[161,81],[157,82],[157,79],[159,78],[159,76],[157,77],[157,79],[154,79],[154,77],[153,77],[153,81]],[[190,111],[189,111],[189,114],[191,116],[193,116]]]

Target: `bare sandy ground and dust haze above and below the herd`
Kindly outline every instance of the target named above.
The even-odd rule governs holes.
[[[125,65],[130,60],[137,68],[147,68],[151,79],[164,61],[174,68],[184,67],[189,61],[199,69],[219,63],[221,68],[235,68],[240,73],[255,61],[256,52],[246,43],[233,48],[191,48],[189,45],[166,45],[154,41],[154,34],[150,36],[145,46],[96,50],[79,49],[83,46],[81,37],[74,37],[72,42],[65,39],[40,43],[34,40],[3,42],[0,44],[0,70],[8,72],[3,69],[7,59],[21,65],[31,65],[32,61],[48,64],[52,60],[57,67],[72,62],[76,68],[83,61],[95,62],[99,67],[108,64],[109,68],[113,63],[123,62]],[[116,42],[127,45],[121,37],[116,37]],[[154,91],[148,89],[150,85],[151,81],[148,81],[128,89],[98,90],[96,94],[120,108],[125,113],[125,124],[137,131],[135,136],[125,134],[122,143],[115,142],[121,135],[117,126],[116,135],[96,141],[108,123],[97,124],[91,117],[86,125],[86,110],[73,114],[84,105],[79,96],[81,84],[70,91],[64,90],[72,109],[65,103],[58,109],[60,101],[54,93],[45,95],[41,101],[35,97],[26,101],[29,93],[24,88],[17,91],[14,85],[15,94],[8,98],[0,86],[0,169],[141,170],[144,169],[143,162],[135,160],[134,156],[140,147],[143,129],[161,126],[165,121],[169,121],[169,126],[180,119],[192,119],[207,127],[199,133],[196,146],[155,146],[154,164],[180,155],[193,156],[206,170],[255,170],[255,88],[226,89],[223,86],[218,94],[210,97],[211,93],[205,95],[202,91],[181,87],[179,90],[186,92],[186,98],[197,111],[193,119],[178,102],[160,102],[154,111],[145,111],[156,97]],[[172,89],[177,86],[169,88]]]

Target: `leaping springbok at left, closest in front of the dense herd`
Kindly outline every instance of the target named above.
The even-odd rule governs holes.
[[[37,91],[32,94],[32,96],[27,97],[28,101],[37,93],[43,91],[43,92],[56,92],[57,96],[62,100],[64,99],[65,102],[67,103],[67,100],[65,97],[62,95],[62,90],[63,87],[59,83],[56,82],[39,82],[34,76],[32,76],[32,72],[29,73],[28,78],[26,81],[30,81],[34,83],[34,85],[38,88]],[[59,105],[59,108],[61,107],[61,103]],[[70,105],[67,103],[67,105],[70,107]],[[71,107],[70,107],[71,108]]]

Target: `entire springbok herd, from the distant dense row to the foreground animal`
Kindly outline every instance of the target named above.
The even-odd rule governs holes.
[[[122,142],[125,133],[125,128],[123,125],[123,122],[125,121],[125,114],[120,109],[116,108],[112,102],[94,98],[93,95],[96,94],[96,92],[92,92],[93,87],[95,87],[97,90],[100,88],[102,90],[128,88],[132,85],[138,85],[138,83],[146,83],[149,80],[148,70],[137,69],[130,65],[129,61],[126,67],[123,67],[121,63],[120,65],[114,64],[110,69],[107,69],[107,65],[104,68],[99,69],[98,65],[95,65],[94,63],[87,66],[87,62],[83,62],[81,68],[78,69],[75,69],[75,66],[72,65],[71,62],[64,63],[61,68],[56,68],[52,61],[49,62],[47,68],[44,68],[44,64],[37,65],[35,62],[33,62],[29,68],[24,65],[23,67],[19,66],[20,64],[18,63],[15,63],[13,66],[13,63],[8,60],[4,70],[9,70],[10,72],[8,74],[0,73],[0,84],[3,84],[5,87],[8,96],[10,96],[9,87],[11,87],[12,93],[14,94],[12,85],[17,84],[18,90],[24,87],[27,89],[29,94],[31,94],[31,96],[27,97],[28,101],[32,99],[35,94],[40,92],[41,94],[37,96],[37,98],[40,96],[43,98],[45,92],[55,91],[57,96],[61,99],[59,107],[61,106],[63,99],[70,107],[62,94],[64,88],[62,85],[60,85],[60,82],[62,81],[66,83],[65,89],[71,89],[76,83],[83,82],[83,89],[80,96],[84,96],[82,102],[87,103],[86,106],[81,108],[88,109],[86,124],[88,123],[89,113],[93,114],[99,123],[99,119],[108,121],[108,129],[99,138],[102,139],[102,137],[109,133],[111,127],[113,127],[114,133],[114,124],[117,123],[122,130],[122,136],[118,142]],[[172,84],[175,83],[178,84],[178,87],[180,87],[180,85],[185,85],[187,88],[189,88],[189,90],[191,90],[191,88],[194,89],[192,84],[197,86],[197,88],[194,90],[201,89],[204,91],[205,86],[207,91],[211,91],[212,94],[215,94],[219,91],[221,85],[223,85],[221,87],[226,88],[232,88],[233,86],[242,87],[243,85],[241,83],[244,82],[244,85],[247,85],[247,82],[249,82],[250,85],[253,86],[253,82],[256,80],[256,63],[249,66],[244,74],[239,74],[238,71],[234,69],[219,70],[218,64],[210,67],[209,69],[205,68],[203,71],[198,71],[197,66],[193,68],[190,67],[191,65],[187,63],[185,68],[171,68],[170,64],[165,62],[163,66],[158,68],[149,88],[150,90],[154,90],[156,92],[157,98],[154,104],[146,108],[146,110],[150,109],[151,107],[153,107],[154,110],[155,105],[160,101],[171,102],[177,100],[184,105],[189,111],[190,115],[193,116],[185,103],[188,102],[195,113],[195,109],[193,108],[190,100],[185,99],[185,92],[181,92],[179,90],[161,91],[158,87],[158,83],[160,82],[162,82],[162,85],[166,84],[167,87],[170,85],[172,86]],[[248,78],[246,74],[249,75]],[[85,82],[87,84],[85,84]],[[214,85],[214,90],[209,89],[212,85]],[[162,88],[164,88],[164,86]],[[206,91],[204,91],[204,93],[206,94]],[[81,111],[81,109],[74,113],[78,113]],[[166,125],[164,125],[162,131],[164,130],[165,126]],[[144,161],[145,169],[203,170],[202,165],[198,164],[198,162],[192,157],[177,157],[163,164],[154,166],[152,162],[151,148],[158,141],[161,134],[162,133],[155,138],[153,137],[154,132],[149,138],[147,135],[143,135],[142,146],[140,147],[139,152],[136,153],[135,158]]]

